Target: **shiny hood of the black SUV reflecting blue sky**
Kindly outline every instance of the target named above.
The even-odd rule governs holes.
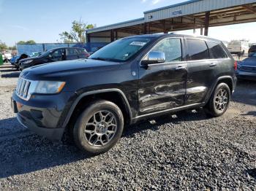
[[[29,58],[30,59],[30,58]],[[20,76],[37,79],[37,77],[65,77],[70,74],[80,74],[104,68],[112,69],[109,66],[116,66],[118,63],[110,61],[97,61],[92,59],[79,59],[74,61],[59,61],[53,63],[44,63],[38,66],[23,70]]]

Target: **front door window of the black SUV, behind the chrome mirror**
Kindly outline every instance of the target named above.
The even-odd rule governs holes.
[[[165,62],[181,61],[181,40],[164,39],[159,42],[151,51],[165,52]]]

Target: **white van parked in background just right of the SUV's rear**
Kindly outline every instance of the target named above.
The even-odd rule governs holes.
[[[227,50],[233,55],[238,55],[238,57],[248,54],[249,42],[242,40],[233,40],[227,44]]]

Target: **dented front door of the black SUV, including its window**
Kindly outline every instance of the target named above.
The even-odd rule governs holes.
[[[139,115],[184,105],[187,62],[182,59],[181,41],[181,38],[168,38],[158,42],[151,51],[164,52],[165,63],[140,66]]]

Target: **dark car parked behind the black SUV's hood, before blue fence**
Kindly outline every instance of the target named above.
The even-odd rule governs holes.
[[[69,61],[79,58],[88,58],[89,52],[84,48],[77,47],[61,47],[53,48],[46,52],[43,52],[41,55],[32,58],[26,58],[20,60],[19,69],[23,70],[31,66],[36,66],[42,63],[52,63],[56,61]]]

